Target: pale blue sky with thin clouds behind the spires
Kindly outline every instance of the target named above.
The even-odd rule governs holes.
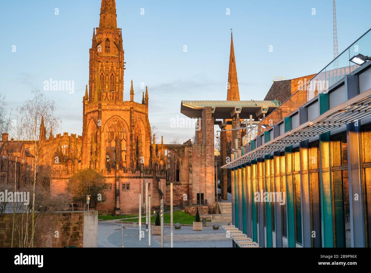
[[[100,6],[101,0],[0,1],[0,93],[9,107],[38,88],[56,102],[62,130],[55,133],[82,134]],[[339,53],[371,27],[366,12],[359,16],[370,7],[368,0],[336,0]],[[116,13],[125,50],[124,100],[131,79],[139,103],[141,85],[148,85],[150,123],[165,143],[194,134],[171,128],[172,118],[185,118],[182,100],[226,100],[231,28],[241,100],[263,100],[274,76],[315,74],[334,55],[331,0],[116,0]],[[74,92],[43,91],[50,78],[73,81]]]

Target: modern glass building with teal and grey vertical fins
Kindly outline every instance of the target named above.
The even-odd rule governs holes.
[[[371,246],[367,56],[370,30],[250,129],[222,166],[233,225],[260,247]]]

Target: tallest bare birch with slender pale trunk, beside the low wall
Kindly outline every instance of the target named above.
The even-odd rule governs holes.
[[[30,148],[35,156],[34,173],[33,173],[33,189],[32,189],[32,209],[31,209],[31,243],[33,247],[33,239],[35,235],[35,198],[36,198],[36,173],[39,171],[40,166],[46,159],[47,150],[44,149],[46,141],[46,132],[59,128],[61,121],[60,118],[54,116],[55,102],[48,100],[40,93],[39,90],[32,90],[33,98],[26,100],[24,105],[19,108],[19,114],[22,120],[22,135],[24,139],[30,141]],[[43,124],[43,127],[40,127]],[[28,212],[27,212],[28,213]]]

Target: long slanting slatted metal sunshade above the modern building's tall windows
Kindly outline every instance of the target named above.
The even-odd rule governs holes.
[[[258,157],[268,155],[368,116],[371,116],[371,89],[331,108],[313,121],[309,120],[293,130],[270,140],[263,146],[257,147],[246,155],[221,166],[221,168],[232,169]]]

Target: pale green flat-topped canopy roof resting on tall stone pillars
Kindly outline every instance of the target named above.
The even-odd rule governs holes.
[[[190,118],[199,118],[202,116],[204,107],[212,108],[212,116],[214,118],[232,118],[237,117],[247,119],[256,119],[263,117],[280,105],[280,102],[275,101],[182,101],[180,113]]]

